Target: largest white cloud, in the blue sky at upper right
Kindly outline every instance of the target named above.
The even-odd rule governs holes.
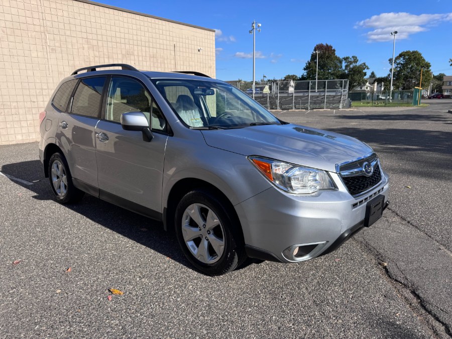
[[[390,41],[393,39],[391,32],[397,31],[397,39],[408,39],[411,34],[424,32],[428,27],[444,21],[452,21],[452,13],[445,14],[421,14],[409,13],[382,13],[369,19],[360,21],[355,28],[370,28],[366,33],[369,42]]]

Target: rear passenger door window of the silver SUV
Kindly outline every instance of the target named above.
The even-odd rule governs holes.
[[[74,94],[71,113],[100,119],[105,79],[104,76],[82,79]]]

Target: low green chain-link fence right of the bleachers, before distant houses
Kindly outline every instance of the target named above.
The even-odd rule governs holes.
[[[407,106],[413,105],[412,90],[393,90],[391,92],[350,91],[352,106]],[[416,103],[417,104],[417,103]]]

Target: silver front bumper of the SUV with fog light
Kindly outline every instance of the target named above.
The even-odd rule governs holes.
[[[384,195],[387,206],[389,177],[383,174],[380,184],[357,198],[332,173],[334,190],[295,195],[271,187],[237,204],[248,255],[290,263],[332,252],[363,228],[368,200]],[[288,255],[294,248],[300,249],[296,258]]]

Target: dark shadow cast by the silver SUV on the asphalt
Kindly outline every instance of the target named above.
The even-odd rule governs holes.
[[[39,160],[5,164],[2,165],[0,171],[9,177],[11,182],[34,192],[36,194],[33,196],[34,199],[52,200],[58,204],[50,188],[49,179],[44,177],[42,164]],[[20,178],[22,181],[17,181],[15,178]],[[77,204],[62,204],[61,206],[193,269],[193,266],[182,254],[176,237],[172,233],[164,231],[162,222],[131,212],[89,194],[85,194]],[[241,268],[249,264],[251,262],[247,262]]]

